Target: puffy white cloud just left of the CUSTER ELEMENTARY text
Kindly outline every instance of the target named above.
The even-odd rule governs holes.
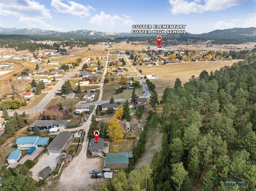
[[[96,24],[104,27],[114,27],[117,24],[121,24],[122,26],[130,26],[135,24],[135,22],[130,18],[130,16],[124,15],[122,18],[117,15],[111,16],[110,14],[105,14],[102,11],[100,15],[96,14],[90,19],[90,24]]]

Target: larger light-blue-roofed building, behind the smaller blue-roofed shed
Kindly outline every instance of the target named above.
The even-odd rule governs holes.
[[[16,144],[19,150],[27,150],[31,147],[45,146],[48,140],[49,137],[27,136],[17,138]]]

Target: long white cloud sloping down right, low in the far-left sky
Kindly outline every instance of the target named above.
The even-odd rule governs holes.
[[[50,24],[45,23],[44,21],[32,18],[32,17],[20,17],[18,22],[26,23],[28,26],[32,28],[40,28],[42,30],[55,30],[55,31],[62,31],[67,32],[65,29],[54,27]]]

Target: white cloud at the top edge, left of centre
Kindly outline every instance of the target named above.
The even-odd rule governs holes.
[[[54,7],[56,12],[68,13],[79,16],[81,18],[90,16],[90,10],[95,10],[91,6],[84,6],[74,1],[68,1],[70,6],[61,2],[62,0],[52,0],[51,6]]]

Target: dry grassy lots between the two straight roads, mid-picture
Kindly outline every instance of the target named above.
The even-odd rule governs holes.
[[[131,96],[132,96],[132,89],[125,89],[125,90],[123,90],[123,93],[116,94],[114,89],[116,87],[119,87],[119,86],[122,86],[122,83],[119,80],[106,83],[104,85],[102,100],[110,100],[111,96],[113,96],[114,99],[121,99],[121,98],[129,99],[129,98],[131,98]],[[137,88],[135,90],[135,93],[138,96],[142,96],[143,95],[142,88],[141,87]]]

